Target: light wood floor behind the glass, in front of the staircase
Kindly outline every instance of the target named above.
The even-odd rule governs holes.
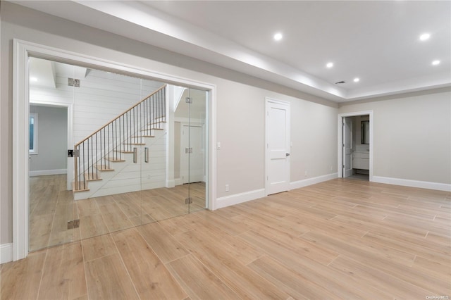
[[[193,203],[185,205],[188,188]],[[205,184],[73,201],[66,175],[30,177],[30,251],[79,241],[205,208]],[[80,227],[68,230],[68,221]]]

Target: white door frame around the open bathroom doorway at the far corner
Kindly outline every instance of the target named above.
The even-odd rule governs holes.
[[[369,181],[373,181],[373,111],[355,111],[350,113],[339,113],[338,114],[338,178],[343,177],[343,118],[345,117],[357,117],[359,115],[369,115]]]

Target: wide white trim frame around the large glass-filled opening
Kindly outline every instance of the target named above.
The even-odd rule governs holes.
[[[204,89],[208,93],[208,207],[216,208],[216,85],[190,80],[185,77],[157,73],[137,65],[127,65],[104,58],[88,56],[72,51],[45,46],[20,39],[13,39],[13,261],[28,255],[30,181],[28,177],[28,118],[30,115],[28,58],[50,59],[80,65],[92,65],[101,69],[120,70],[123,73],[150,77],[162,82]]]

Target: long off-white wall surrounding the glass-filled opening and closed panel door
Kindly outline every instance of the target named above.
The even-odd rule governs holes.
[[[2,2],[0,244],[12,241],[13,38],[216,85],[216,139],[221,142],[221,149],[217,151],[217,197],[265,187],[266,96],[291,103],[291,181],[337,172],[336,104],[233,70]],[[306,170],[307,177],[304,175]],[[230,185],[230,192],[225,192],[226,184]]]

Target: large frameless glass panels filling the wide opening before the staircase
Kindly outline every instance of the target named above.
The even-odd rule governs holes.
[[[30,61],[30,251],[206,208],[206,92]]]

